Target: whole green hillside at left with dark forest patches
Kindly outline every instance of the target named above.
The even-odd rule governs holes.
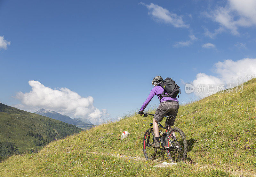
[[[81,131],[75,125],[0,103],[0,161]]]

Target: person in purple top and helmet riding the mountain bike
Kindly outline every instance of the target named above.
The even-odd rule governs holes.
[[[153,129],[156,136],[156,142],[152,144],[153,148],[160,147],[158,122],[161,122],[166,114],[173,115],[174,117],[171,119],[172,120],[171,126],[173,126],[175,118],[178,114],[178,109],[179,109],[179,101],[177,98],[171,98],[168,95],[168,93],[165,93],[168,96],[165,95],[161,99],[161,94],[164,92],[164,89],[160,85],[162,81],[163,81],[163,78],[161,76],[154,77],[152,81],[152,85],[154,85],[154,88],[149,93],[147,100],[143,103],[138,113],[140,115],[143,115],[144,114],[143,111],[148,106],[148,103],[152,100],[154,95],[157,95],[158,99],[160,100],[160,105],[156,109],[156,113],[153,119]],[[168,126],[168,130],[170,129],[171,126]]]

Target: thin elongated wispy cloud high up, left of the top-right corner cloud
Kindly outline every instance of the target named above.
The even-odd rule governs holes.
[[[172,24],[175,27],[186,27],[188,28],[189,25],[186,25],[182,17],[175,14],[171,13],[167,9],[164,9],[163,7],[150,3],[150,4],[145,4],[145,3],[140,3],[148,8],[148,14],[151,15],[155,20],[161,21],[164,23],[169,23]]]

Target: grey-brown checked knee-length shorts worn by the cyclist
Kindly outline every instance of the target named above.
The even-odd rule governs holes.
[[[161,122],[166,114],[173,115],[174,117],[171,120],[171,126],[173,126],[175,118],[178,114],[178,109],[179,109],[178,102],[171,102],[171,101],[161,102],[158,108],[156,109],[154,118],[157,122]]]

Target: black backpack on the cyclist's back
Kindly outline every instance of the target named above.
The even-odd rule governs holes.
[[[172,80],[170,77],[167,77],[164,79],[163,82],[160,84],[162,88],[164,89],[164,92],[160,94],[160,100],[163,97],[171,97],[171,98],[176,98],[177,95],[180,93],[180,87],[175,83],[174,80]],[[165,93],[168,93],[165,94]],[[179,98],[179,95],[178,95]]]

